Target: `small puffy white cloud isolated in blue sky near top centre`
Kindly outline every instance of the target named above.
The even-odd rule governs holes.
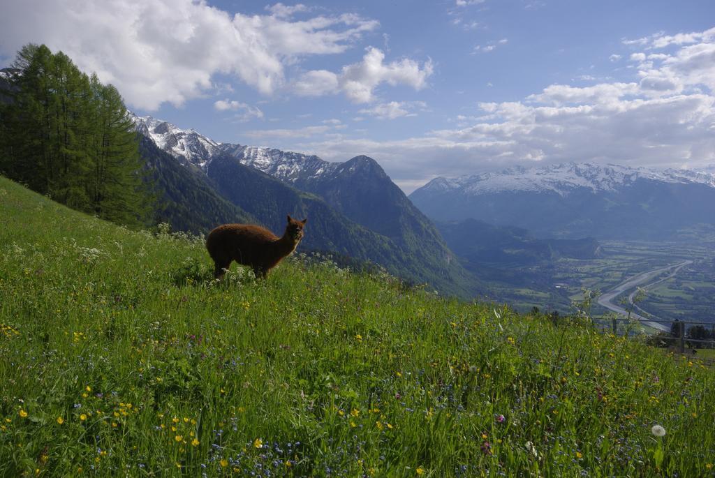
[[[421,66],[418,61],[407,58],[388,64],[384,61],[383,51],[371,46],[362,61],[343,66],[340,74],[327,70],[307,71],[295,81],[293,91],[302,96],[342,92],[353,103],[369,103],[374,99],[375,88],[382,83],[403,84],[419,90],[433,73],[430,60]]]

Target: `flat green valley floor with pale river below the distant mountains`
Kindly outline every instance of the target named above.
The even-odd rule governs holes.
[[[524,312],[538,307],[560,314],[574,311],[572,304],[583,300],[583,290],[606,292],[593,304],[593,314],[601,316],[645,284],[645,297],[637,304],[645,313],[663,320],[689,317],[715,322],[709,312],[715,310],[715,252],[707,242],[602,241],[601,245],[603,256],[595,259],[560,258],[503,269],[492,274],[498,281],[490,283],[490,291],[497,302]],[[486,270],[491,274],[492,269]]]

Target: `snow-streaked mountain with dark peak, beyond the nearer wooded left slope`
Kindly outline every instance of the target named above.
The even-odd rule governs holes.
[[[310,216],[304,247],[408,271],[420,281],[450,282],[445,287],[454,290],[477,287],[451,260],[435,226],[368,156],[332,163],[280,149],[219,143],[151,116],[132,119],[152,144],[181,164],[198,166],[191,168],[194,174],[207,176],[220,196],[262,224],[277,230],[286,212]]]

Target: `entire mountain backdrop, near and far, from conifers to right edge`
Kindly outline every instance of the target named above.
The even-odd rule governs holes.
[[[368,156],[329,162],[133,118],[163,201],[157,219],[194,232],[252,222],[280,234],[285,214],[307,216],[300,250],[380,264],[463,297],[489,294],[493,281],[516,285],[519,267],[601,257],[598,239],[693,238],[715,229],[710,171],[511,168],[436,178],[408,198]]]

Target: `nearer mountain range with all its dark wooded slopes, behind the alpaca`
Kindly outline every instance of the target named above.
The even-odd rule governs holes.
[[[150,116],[132,117],[157,181],[159,219],[174,228],[205,232],[223,222],[252,222],[281,234],[286,214],[307,216],[299,250],[379,264],[410,282],[463,297],[483,289],[432,222],[368,156],[331,163],[219,143]]]

